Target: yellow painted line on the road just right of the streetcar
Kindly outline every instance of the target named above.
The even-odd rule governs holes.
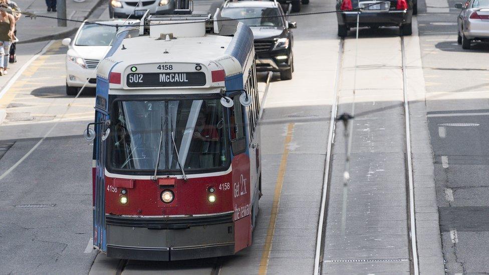
[[[284,185],[285,171],[287,168],[287,159],[289,157],[289,143],[292,140],[292,131],[294,130],[294,123],[289,123],[287,127],[287,136],[284,142],[284,153],[282,154],[282,160],[280,161],[279,175],[277,176],[277,182],[275,183],[274,201],[272,204],[272,214],[270,215],[270,222],[267,229],[267,238],[265,239],[265,246],[263,247],[262,259],[260,260],[259,274],[267,274],[268,262],[270,258],[270,252],[272,251],[272,242],[275,234],[275,223],[277,221],[277,215],[279,213],[280,194],[282,193],[282,186]]]

